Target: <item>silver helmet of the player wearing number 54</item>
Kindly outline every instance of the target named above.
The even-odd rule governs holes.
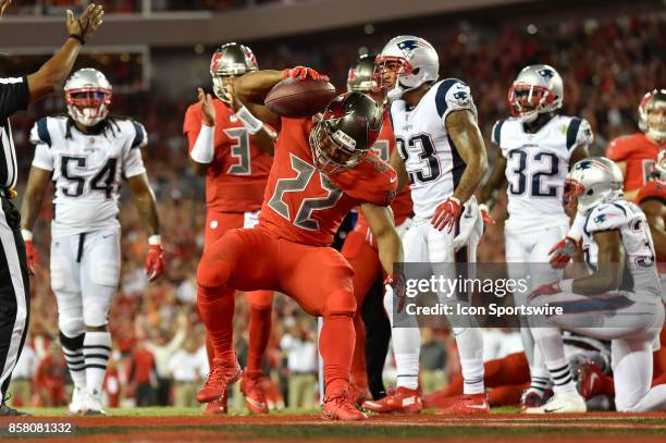
[[[85,125],[95,126],[109,114],[113,87],[104,74],[92,67],[76,71],[64,86],[70,116]]]

